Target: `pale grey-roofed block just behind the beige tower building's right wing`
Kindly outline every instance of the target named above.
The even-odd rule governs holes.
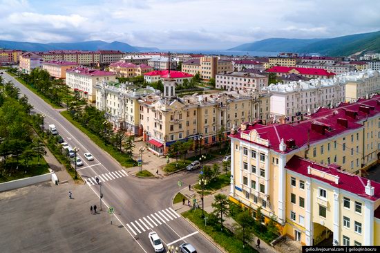
[[[245,72],[225,72],[216,74],[216,88],[227,91],[238,91],[243,89],[258,89],[268,86],[268,77]]]

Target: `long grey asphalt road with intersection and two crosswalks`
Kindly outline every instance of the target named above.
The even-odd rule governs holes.
[[[191,243],[198,252],[220,252],[171,209],[172,198],[178,191],[178,180],[182,180],[184,185],[192,184],[198,179],[196,171],[182,172],[161,179],[141,179],[128,175],[108,153],[97,147],[84,133],[61,116],[59,110],[46,104],[12,76],[4,73],[3,79],[18,86],[21,94],[28,96],[34,110],[46,115],[45,127],[55,124],[64,140],[71,147],[79,148],[78,155],[82,158],[84,166],[78,168],[78,174],[86,179],[87,187],[98,197],[102,188],[103,205],[114,207],[115,218],[126,229],[125,240],[139,246],[131,247],[131,250],[126,249],[126,252],[154,252],[148,238],[151,231],[157,232],[165,245]],[[95,160],[85,160],[85,152],[92,153]],[[99,177],[102,186],[93,184],[96,176]]]

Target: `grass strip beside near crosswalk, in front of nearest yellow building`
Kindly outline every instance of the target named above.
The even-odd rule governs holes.
[[[205,212],[206,216],[209,216],[207,212]],[[243,247],[243,242],[240,241],[238,238],[234,236],[232,232],[229,231],[229,229],[223,229],[223,231],[220,231],[220,225],[219,224],[207,224],[205,226],[205,221],[200,217],[202,215],[201,209],[196,210],[190,210],[187,212],[182,213],[182,216],[185,218],[189,218],[190,221],[192,221],[199,229],[202,229],[203,232],[211,236],[213,238],[213,241],[218,243],[220,246],[225,248],[227,252],[230,253],[252,253],[252,252],[258,252],[250,245],[245,245]]]

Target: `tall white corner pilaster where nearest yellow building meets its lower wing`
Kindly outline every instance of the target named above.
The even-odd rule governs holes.
[[[281,154],[278,158],[278,218],[285,223],[285,191],[286,191],[286,156]]]

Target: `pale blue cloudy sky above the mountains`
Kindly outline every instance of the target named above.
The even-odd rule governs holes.
[[[380,30],[379,0],[0,0],[0,39],[223,50]]]

